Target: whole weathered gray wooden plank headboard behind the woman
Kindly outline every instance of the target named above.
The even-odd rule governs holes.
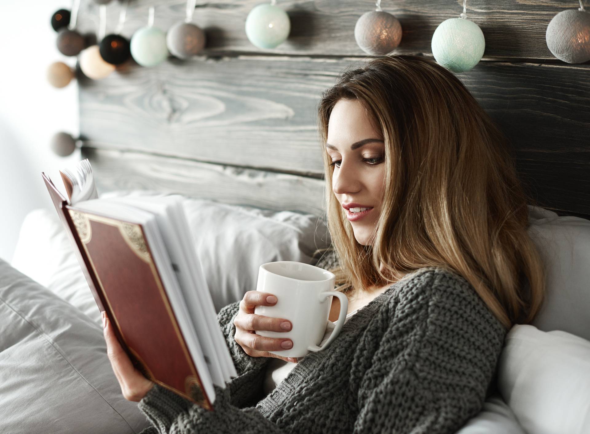
[[[154,189],[225,203],[321,213],[323,169],[316,105],[351,64],[366,60],[354,27],[375,2],[278,1],[291,19],[286,42],[258,50],[244,31],[261,1],[197,4],[207,45],[189,61],[144,68],[130,61],[104,80],[78,70],[83,157],[101,192]],[[166,31],[186,1],[130,1],[122,34],[148,22]],[[432,57],[435,28],[463,1],[381,2],[404,30],[398,50]],[[577,1],[468,0],[467,18],[486,38],[481,62],[457,74],[514,147],[517,169],[540,206],[590,219],[590,64],[566,64],[548,50],[554,15]],[[107,6],[107,34],[120,3]],[[79,28],[96,32],[99,8],[82,2]]]

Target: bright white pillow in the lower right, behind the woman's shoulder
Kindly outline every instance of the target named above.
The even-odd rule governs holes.
[[[590,341],[514,325],[500,354],[497,385],[526,432],[590,433]]]

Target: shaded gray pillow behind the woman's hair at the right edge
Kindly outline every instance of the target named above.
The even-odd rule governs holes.
[[[529,211],[528,232],[546,267],[546,301],[532,325],[590,340],[590,220]]]

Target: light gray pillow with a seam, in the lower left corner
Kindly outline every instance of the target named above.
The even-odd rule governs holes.
[[[0,432],[139,433],[148,419],[124,399],[103,331],[0,259]]]

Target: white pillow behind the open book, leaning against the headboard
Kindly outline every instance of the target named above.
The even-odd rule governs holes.
[[[143,195],[165,194],[120,190],[101,198]],[[217,311],[255,290],[260,265],[272,261],[312,264],[317,260],[313,252],[330,244],[319,216],[181,197]],[[100,311],[55,209],[36,209],[25,217],[12,265],[100,324]]]

